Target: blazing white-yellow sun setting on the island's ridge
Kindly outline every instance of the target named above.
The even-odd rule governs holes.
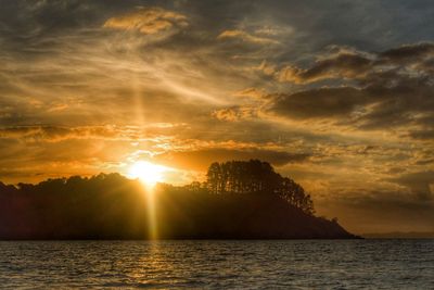
[[[130,178],[139,178],[148,186],[154,186],[164,180],[164,173],[167,168],[148,161],[138,161],[131,165],[128,172]]]

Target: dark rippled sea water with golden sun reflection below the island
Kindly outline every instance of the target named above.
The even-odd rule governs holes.
[[[3,241],[0,287],[434,289],[434,240]]]

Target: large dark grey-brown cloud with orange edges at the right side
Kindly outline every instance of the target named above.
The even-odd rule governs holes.
[[[433,49],[433,43],[404,46],[371,59],[340,53],[306,70],[291,68],[286,81],[340,78],[341,85],[278,94],[270,110],[290,118],[331,118],[359,129],[414,126],[418,135],[427,137],[423,130],[434,116],[434,78],[420,64]]]

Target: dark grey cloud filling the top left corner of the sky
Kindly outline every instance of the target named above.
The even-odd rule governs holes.
[[[56,37],[88,30],[101,17],[97,5],[84,1],[2,1],[1,4],[3,49],[27,61],[51,54],[63,39]]]

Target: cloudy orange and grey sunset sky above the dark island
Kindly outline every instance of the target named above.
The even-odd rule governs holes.
[[[0,180],[260,159],[356,234],[434,231],[434,5],[0,0]]]

